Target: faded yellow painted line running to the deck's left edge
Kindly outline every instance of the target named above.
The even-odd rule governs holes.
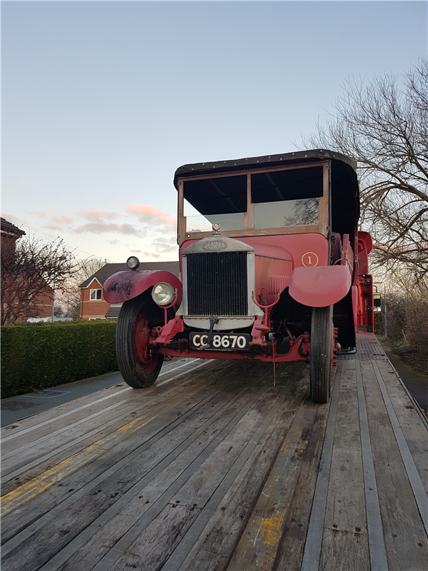
[[[15,490],[1,496],[0,517],[16,510],[20,505],[48,490],[49,487],[56,484],[56,482],[59,482],[64,477],[73,474],[76,470],[82,468],[82,466],[103,455],[107,450],[113,448],[118,440],[123,440],[123,435],[126,435],[127,437],[128,433],[138,430],[138,428],[146,425],[148,422],[153,420],[153,418],[156,418],[156,416],[157,415],[153,415],[150,418],[136,418],[135,420],[131,420],[130,423],[121,426],[121,428],[118,428],[114,433],[106,436],[106,438],[97,440],[87,448],[83,448],[81,452],[73,454],[56,466],[49,468],[49,470],[46,470],[39,476],[29,480],[29,482],[26,482]]]

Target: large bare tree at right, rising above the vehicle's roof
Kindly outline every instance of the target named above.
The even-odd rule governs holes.
[[[303,141],[355,158],[374,263],[426,281],[428,60],[420,59],[401,77],[347,81],[335,112]]]

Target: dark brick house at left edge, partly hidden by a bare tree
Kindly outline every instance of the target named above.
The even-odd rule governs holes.
[[[14,323],[15,320],[14,316],[9,313],[10,309],[6,303],[5,295],[11,294],[10,285],[13,283],[11,282],[12,278],[9,278],[8,281],[6,268],[9,267],[10,271],[11,264],[14,263],[16,241],[22,236],[25,236],[25,232],[21,228],[0,217],[0,323],[4,320],[5,325]],[[6,294],[5,291],[8,290],[9,293]],[[17,322],[26,321],[29,317],[51,316],[52,289],[45,281],[42,281],[39,292],[29,296],[26,305],[21,304],[21,308],[20,317],[16,319]]]

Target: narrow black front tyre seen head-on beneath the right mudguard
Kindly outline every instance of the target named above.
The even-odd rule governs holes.
[[[310,333],[310,398],[328,403],[332,375],[333,306],[312,308]]]

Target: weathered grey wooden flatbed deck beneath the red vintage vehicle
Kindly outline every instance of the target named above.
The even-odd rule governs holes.
[[[1,571],[427,570],[427,422],[374,335],[304,363],[185,360],[1,430]]]

